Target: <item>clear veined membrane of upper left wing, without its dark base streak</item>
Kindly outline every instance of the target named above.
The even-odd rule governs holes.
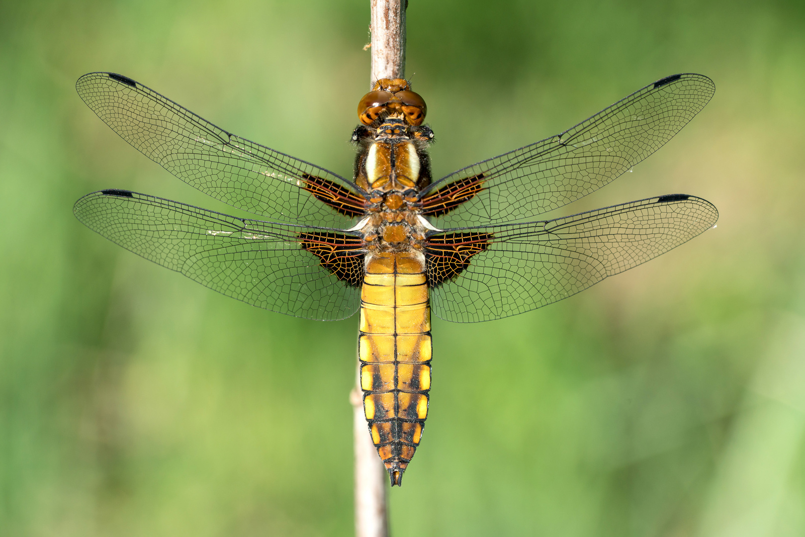
[[[315,178],[361,193],[332,171],[230,134],[126,76],[91,72],[76,89],[126,142],[217,200],[270,220],[337,228],[354,220],[306,189]]]

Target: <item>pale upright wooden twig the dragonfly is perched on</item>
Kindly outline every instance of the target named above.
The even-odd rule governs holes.
[[[407,0],[369,0],[371,6],[372,63],[369,85],[379,78],[405,76],[405,9]],[[355,535],[387,537],[388,474],[372,444],[363,413],[361,363],[357,365],[355,387],[349,396],[353,404],[355,442]]]

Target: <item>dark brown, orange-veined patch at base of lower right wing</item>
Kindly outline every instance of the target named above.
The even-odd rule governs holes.
[[[445,233],[428,238],[425,248],[427,283],[438,287],[456,279],[469,266],[469,258],[486,250],[492,238],[492,233]]]

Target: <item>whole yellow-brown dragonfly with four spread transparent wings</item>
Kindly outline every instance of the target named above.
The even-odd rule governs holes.
[[[667,76],[562,133],[437,180],[427,105],[404,79],[376,81],[359,101],[351,179],[229,133],[127,76],[92,72],[76,89],[138,151],[257,217],[109,188],[76,201],[79,221],[246,304],[313,320],[359,312],[367,434],[392,486],[427,419],[431,312],[457,323],[529,312],[718,219],[687,194],[539,219],[667,143],[715,91],[699,74]]]

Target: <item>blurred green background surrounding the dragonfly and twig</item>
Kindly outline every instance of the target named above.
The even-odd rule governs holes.
[[[357,320],[218,295],[72,217],[227,212],[106,127],[85,72],[349,174],[369,2],[0,2],[0,535],[351,535]],[[403,535],[805,535],[802,2],[411,0],[436,176],[675,72],[716,96],[572,213],[685,192],[718,227],[559,304],[434,320]]]

